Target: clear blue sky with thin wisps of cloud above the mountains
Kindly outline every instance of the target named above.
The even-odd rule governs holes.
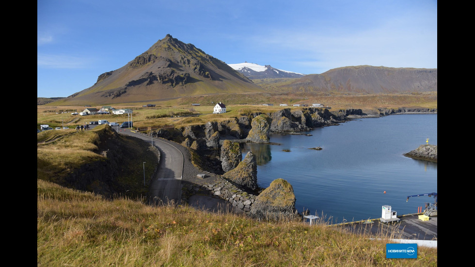
[[[168,33],[225,63],[303,74],[437,68],[436,0],[37,0],[37,96],[91,87]]]

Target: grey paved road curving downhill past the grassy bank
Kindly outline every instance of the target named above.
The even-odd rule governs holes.
[[[160,151],[158,172],[155,173],[149,188],[150,195],[156,204],[177,204],[181,199],[181,180],[183,178],[184,157],[172,142],[163,139],[153,139],[129,129],[118,130],[120,134],[134,136],[152,143]]]

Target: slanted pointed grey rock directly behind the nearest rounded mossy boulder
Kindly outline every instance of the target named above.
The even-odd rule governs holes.
[[[224,173],[222,177],[245,188],[257,188],[257,163],[254,154],[249,151],[238,167]]]

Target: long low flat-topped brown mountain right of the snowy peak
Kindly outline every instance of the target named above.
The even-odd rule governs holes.
[[[437,69],[368,65],[309,74],[278,86],[287,92],[403,93],[437,92]]]

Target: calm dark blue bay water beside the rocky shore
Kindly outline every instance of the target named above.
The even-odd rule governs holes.
[[[437,114],[391,115],[317,128],[305,135],[272,135],[281,145],[244,144],[257,157],[257,182],[277,179],[294,188],[296,208],[333,223],[381,217],[381,206],[397,215],[417,212],[437,192],[437,163],[402,156],[426,143],[437,145]],[[323,150],[308,148],[320,146]],[[283,149],[289,149],[285,152]],[[384,193],[386,191],[386,193]]]

